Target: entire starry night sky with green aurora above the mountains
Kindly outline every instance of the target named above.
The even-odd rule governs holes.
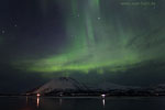
[[[0,92],[54,77],[165,82],[164,0],[0,0]]]

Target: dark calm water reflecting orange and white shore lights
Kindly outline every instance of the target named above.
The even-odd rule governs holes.
[[[0,97],[0,110],[165,110],[165,97]]]

